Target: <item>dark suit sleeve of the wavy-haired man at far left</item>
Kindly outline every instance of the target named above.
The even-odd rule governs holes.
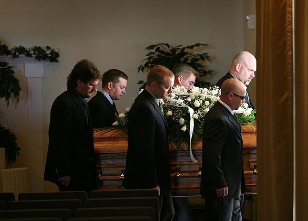
[[[51,108],[51,128],[49,139],[52,139],[54,149],[54,162],[58,170],[58,176],[71,175],[71,148],[69,115],[66,102],[57,101]]]

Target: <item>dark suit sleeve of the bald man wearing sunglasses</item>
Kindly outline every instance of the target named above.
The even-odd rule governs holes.
[[[222,119],[213,119],[205,125],[203,134],[205,168],[209,174],[213,189],[227,187],[221,170],[221,152],[226,142],[227,127]]]

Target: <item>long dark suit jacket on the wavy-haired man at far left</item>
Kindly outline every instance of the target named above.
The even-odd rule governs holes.
[[[44,180],[71,176],[70,189],[88,191],[96,184],[93,127],[80,99],[77,90],[67,90],[52,104]]]

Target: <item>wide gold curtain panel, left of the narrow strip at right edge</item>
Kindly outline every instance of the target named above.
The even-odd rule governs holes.
[[[292,220],[292,1],[256,3],[257,219]]]

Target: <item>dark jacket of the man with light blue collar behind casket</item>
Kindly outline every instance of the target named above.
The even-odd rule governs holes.
[[[94,128],[111,127],[115,122],[115,114],[118,113],[115,106],[112,106],[106,96],[97,91],[96,95],[89,101]]]

